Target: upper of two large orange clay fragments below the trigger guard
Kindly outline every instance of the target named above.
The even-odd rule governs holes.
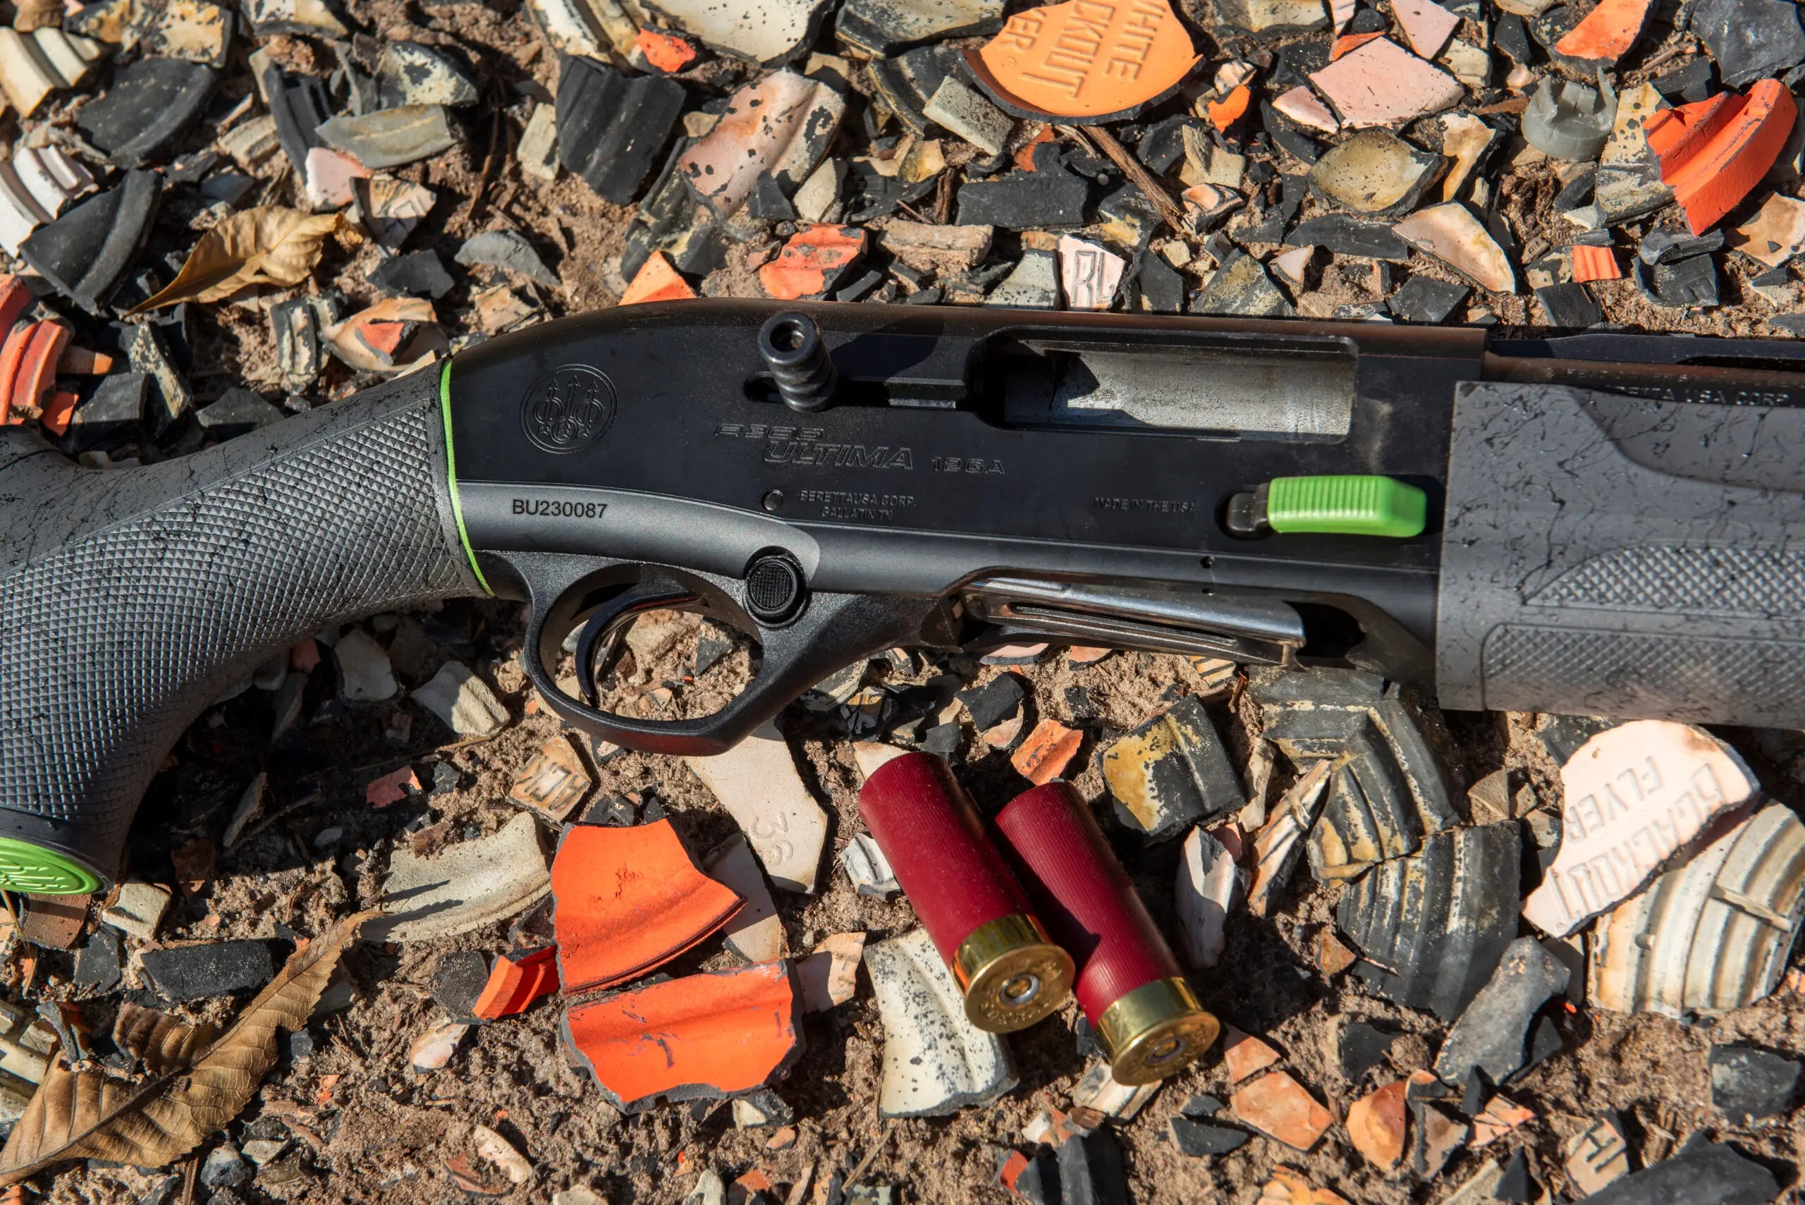
[[[552,931],[567,992],[637,978],[738,909],[740,897],[695,868],[668,819],[578,824],[552,859]]]

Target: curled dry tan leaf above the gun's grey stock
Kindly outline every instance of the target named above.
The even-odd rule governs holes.
[[[143,314],[182,301],[218,301],[249,285],[298,285],[319,263],[327,236],[361,238],[343,213],[301,213],[258,206],[235,213],[200,236],[170,287],[130,310]]]

